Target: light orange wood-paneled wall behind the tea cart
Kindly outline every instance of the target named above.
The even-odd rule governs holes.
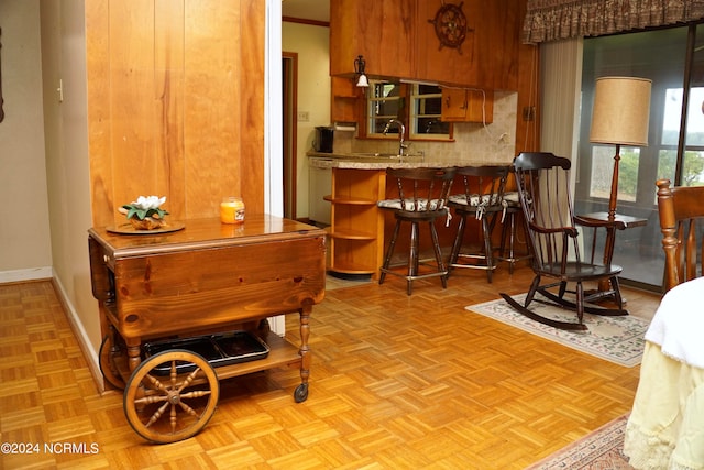
[[[95,226],[140,195],[173,220],[264,210],[264,30],[261,0],[86,2]]]

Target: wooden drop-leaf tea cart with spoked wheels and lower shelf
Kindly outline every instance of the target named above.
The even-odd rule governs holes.
[[[100,370],[124,390],[124,413],[140,436],[160,444],[194,436],[228,378],[299,367],[294,398],[308,397],[308,323],[324,296],[323,230],[248,215],[242,225],[212,218],[88,233]],[[268,330],[267,317],[289,313],[299,314],[298,347]]]

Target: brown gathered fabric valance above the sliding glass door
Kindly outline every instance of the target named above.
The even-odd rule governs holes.
[[[528,0],[522,41],[600,36],[704,18],[704,0]]]

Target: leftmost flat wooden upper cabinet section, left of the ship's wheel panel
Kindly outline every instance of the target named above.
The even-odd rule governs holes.
[[[367,75],[411,78],[416,0],[330,0],[330,75],[353,76],[362,55]]]

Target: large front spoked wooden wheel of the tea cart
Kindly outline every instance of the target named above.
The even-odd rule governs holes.
[[[124,390],[124,414],[143,438],[175,442],[195,436],[208,424],[219,396],[218,375],[202,356],[169,349],[132,372]]]

